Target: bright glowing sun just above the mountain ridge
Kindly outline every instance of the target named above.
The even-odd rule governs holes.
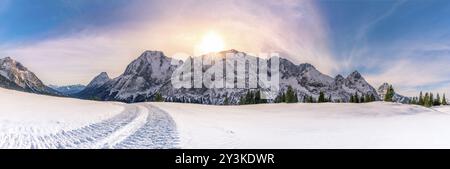
[[[196,46],[197,54],[208,54],[212,52],[219,52],[225,49],[225,43],[222,37],[213,31],[206,33],[201,42]]]

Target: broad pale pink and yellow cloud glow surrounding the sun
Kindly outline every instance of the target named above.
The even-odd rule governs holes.
[[[47,83],[87,83],[100,71],[119,75],[146,49],[192,53],[201,36],[214,30],[225,38],[226,48],[279,51],[325,73],[336,69],[322,16],[311,1],[131,2],[114,25],[4,46],[0,55],[18,58]]]

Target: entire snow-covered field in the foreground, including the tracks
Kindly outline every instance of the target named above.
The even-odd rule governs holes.
[[[450,107],[122,104],[0,88],[0,148],[450,148]]]

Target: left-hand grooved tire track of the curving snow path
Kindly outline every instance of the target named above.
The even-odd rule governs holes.
[[[137,109],[137,106],[126,105],[123,112],[110,119],[54,134],[38,135],[27,128],[23,129],[25,132],[0,134],[0,148],[97,148],[93,147],[96,142],[135,120],[139,115]]]

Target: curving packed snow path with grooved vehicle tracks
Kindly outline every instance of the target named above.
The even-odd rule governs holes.
[[[40,135],[34,129],[0,133],[0,148],[177,148],[176,125],[166,112],[148,105],[125,105],[114,117],[78,129]]]

